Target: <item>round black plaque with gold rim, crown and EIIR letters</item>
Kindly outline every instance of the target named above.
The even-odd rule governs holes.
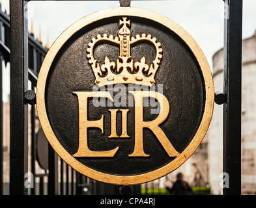
[[[126,47],[121,51],[122,31],[130,35],[133,65],[129,66],[134,69],[136,63],[147,64],[149,68],[152,66],[154,80],[140,83],[139,71],[132,72],[128,68],[130,78],[124,76],[121,82],[117,60],[121,59],[121,53],[126,52]],[[106,80],[104,82],[109,72],[103,70],[100,75],[96,71],[97,64],[104,66],[107,62],[116,64],[111,68],[113,85],[107,85]],[[125,70],[124,66],[121,70]],[[145,80],[147,70],[142,70],[141,75]],[[129,83],[129,80],[132,81]],[[132,90],[130,86],[133,86]],[[85,102],[79,104],[76,92],[86,94],[95,88],[97,92],[106,90],[111,94],[112,106],[98,107],[92,98],[88,98],[87,106]],[[145,155],[132,157],[138,138],[135,128],[140,122],[136,123],[137,110],[131,103],[134,103],[133,92],[143,90],[159,92],[167,99],[162,106],[157,99],[144,98],[142,110],[143,122],[150,122],[158,119],[159,109],[169,108],[166,118],[158,125],[167,139],[162,142],[162,138],[156,136],[156,130],[144,127],[141,135]],[[121,97],[125,98],[122,102]],[[111,8],[80,19],[55,41],[38,76],[36,103],[42,129],[64,161],[93,179],[128,185],[162,177],[192,155],[210,123],[214,85],[201,49],[177,23],[141,8]],[[87,107],[87,118],[85,114],[81,116],[81,105]],[[127,110],[127,133],[123,138],[120,137],[125,129],[122,110]],[[116,111],[115,124],[111,123],[111,111]],[[81,120],[97,121],[101,118],[102,129],[87,129],[87,146],[90,151],[98,153],[115,148],[117,151],[113,156],[76,156],[80,148],[79,138],[84,136],[81,135]],[[113,126],[116,126],[119,137],[109,136]],[[166,142],[173,146],[176,155],[168,153]]]

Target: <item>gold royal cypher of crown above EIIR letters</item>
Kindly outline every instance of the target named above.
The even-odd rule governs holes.
[[[89,47],[87,49],[87,59],[89,59],[89,63],[91,64],[94,76],[96,78],[95,84],[98,86],[104,85],[119,85],[119,84],[134,84],[134,85],[145,85],[151,86],[155,83],[154,76],[158,70],[158,66],[160,64],[160,59],[162,59],[162,48],[161,44],[156,41],[156,38],[151,38],[151,35],[148,34],[137,34],[134,37],[131,37],[130,29],[130,20],[127,20],[126,17],[123,17],[122,20],[119,21],[119,37],[113,37],[112,35],[107,37],[107,34],[100,36],[98,34],[97,38],[92,38],[92,42],[89,43]],[[149,42],[154,45],[156,51],[156,57],[153,60],[152,64],[147,65],[145,63],[145,57],[141,58],[140,62],[133,61],[130,54],[131,45],[138,44],[140,42]],[[120,54],[117,59],[117,64],[115,62],[110,62],[107,57],[105,57],[104,64],[100,66],[96,59],[94,59],[93,52],[94,47],[101,43],[108,43],[119,45]],[[74,157],[113,157],[119,147],[109,150],[109,151],[91,151],[88,146],[88,133],[87,128],[89,127],[99,127],[104,131],[104,121],[103,117],[98,121],[90,121],[87,120],[87,103],[88,98],[111,98],[111,94],[109,92],[73,92],[78,96],[79,102],[79,116],[81,116],[79,120],[79,148],[78,152],[74,154]],[[171,142],[169,142],[167,136],[164,131],[159,127],[160,123],[164,122],[169,114],[169,102],[167,98],[163,94],[159,92],[151,92],[151,91],[133,91],[130,92],[133,94],[135,100],[135,132],[134,132],[134,151],[132,154],[129,154],[128,157],[149,157],[149,154],[146,154],[143,148],[143,128],[149,128],[152,133],[156,136],[156,138],[160,141],[165,151],[169,155],[169,157],[177,157],[178,152]],[[152,120],[150,122],[143,121],[143,107],[145,103],[143,103],[143,98],[155,98],[160,104],[160,112],[157,119]],[[121,111],[122,113],[122,135],[117,135],[117,111]],[[130,138],[127,135],[127,114],[129,109],[109,109],[111,112],[111,135],[108,138]]]

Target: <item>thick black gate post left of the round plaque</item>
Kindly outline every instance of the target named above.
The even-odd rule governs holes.
[[[10,0],[10,194],[27,194],[28,31],[27,1]]]

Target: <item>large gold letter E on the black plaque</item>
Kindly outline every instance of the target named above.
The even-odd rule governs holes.
[[[103,120],[104,115],[100,120],[88,120],[87,112],[87,99],[94,97],[109,98],[113,101],[109,92],[73,92],[78,96],[78,108],[79,108],[79,146],[78,151],[73,157],[113,157],[119,147],[108,151],[91,151],[88,147],[87,129],[89,127],[96,127],[102,130],[104,133]]]

